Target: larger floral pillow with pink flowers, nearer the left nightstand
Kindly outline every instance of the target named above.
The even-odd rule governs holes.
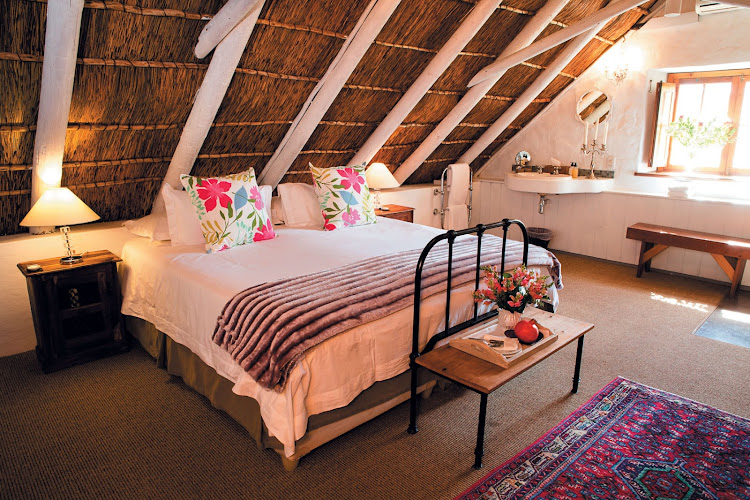
[[[198,214],[206,253],[276,237],[255,172],[226,177],[180,176]]]

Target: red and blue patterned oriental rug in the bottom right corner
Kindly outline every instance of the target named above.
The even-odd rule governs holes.
[[[750,420],[616,378],[460,499],[750,499]]]

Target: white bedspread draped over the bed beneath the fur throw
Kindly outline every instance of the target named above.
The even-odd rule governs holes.
[[[373,383],[408,369],[412,308],[339,334],[309,350],[282,392],[263,389],[211,340],[216,318],[236,293],[253,285],[305,275],[387,253],[423,248],[442,230],[378,218],[377,224],[339,231],[275,228],[278,238],[206,254],[203,245],[170,246],[137,238],[121,264],[123,314],[153,323],[234,382],[236,394],[258,401],[269,433],[287,456],[307,419],[349,404]],[[546,269],[540,269],[549,274]],[[473,284],[452,295],[451,324],[473,305]],[[550,290],[557,300],[554,289]],[[431,300],[432,299],[432,300]],[[423,300],[422,342],[440,331],[444,296]]]

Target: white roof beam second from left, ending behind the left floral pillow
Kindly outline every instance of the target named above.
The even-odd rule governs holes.
[[[193,108],[185,122],[180,135],[180,142],[169,162],[169,168],[164,176],[164,185],[174,188],[180,187],[180,175],[189,174],[193,169],[198,153],[203,147],[211,124],[219,111],[229,84],[232,83],[235,69],[240,63],[245,47],[253,33],[255,22],[263,8],[264,0],[255,5],[255,9],[245,17],[224,39],[216,46],[211,63],[208,65],[198,92],[193,101]],[[164,200],[157,195],[154,200],[153,212],[164,211]]]

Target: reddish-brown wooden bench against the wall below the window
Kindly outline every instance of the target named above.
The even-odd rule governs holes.
[[[650,271],[650,260],[669,247],[707,252],[729,276],[732,282],[729,289],[730,297],[737,294],[737,288],[745,271],[745,263],[750,258],[749,239],[721,236],[702,231],[690,231],[639,222],[628,227],[627,238],[641,241],[641,254],[638,259],[636,277],[640,278],[644,269]],[[730,263],[727,257],[736,263]]]

